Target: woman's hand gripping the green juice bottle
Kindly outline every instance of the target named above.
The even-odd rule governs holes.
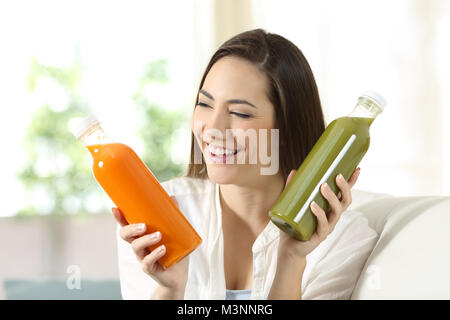
[[[286,180],[286,186],[294,176],[295,172],[296,170],[292,170],[289,173]],[[326,183],[322,184],[320,191],[330,204],[328,211],[325,213],[317,204],[314,205],[315,202],[311,204],[311,211],[317,217],[317,228],[309,240],[298,241],[287,233],[280,231],[280,243],[278,246],[279,257],[282,259],[304,259],[307,254],[313,251],[331,232],[333,232],[342,212],[347,210],[352,203],[352,194],[350,190],[358,180],[359,172],[360,168],[357,168],[348,181],[345,181],[343,177],[341,179],[340,175],[336,177],[336,184],[340,189],[337,196]]]

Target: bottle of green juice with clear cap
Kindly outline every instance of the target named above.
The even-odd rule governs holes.
[[[325,212],[328,201],[320,186],[327,182],[337,195],[336,176],[348,180],[370,144],[369,128],[386,105],[376,92],[362,94],[353,111],[331,122],[313,146],[289,185],[269,211],[272,222],[297,240],[308,240],[316,230],[317,218],[310,205],[315,201]]]

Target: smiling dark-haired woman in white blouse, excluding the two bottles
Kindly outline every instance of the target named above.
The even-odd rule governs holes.
[[[261,29],[225,42],[201,79],[187,175],[162,183],[203,243],[163,270],[164,246],[147,249],[161,235],[145,235],[145,225],[129,225],[113,208],[123,297],[348,299],[377,239],[365,218],[342,214],[359,169],[336,178],[338,196],[321,186],[330,209],[311,206],[318,226],[310,240],[280,232],[268,216],[324,129],[312,71],[294,44]],[[271,174],[261,173],[261,157],[251,161],[255,143],[279,161]]]

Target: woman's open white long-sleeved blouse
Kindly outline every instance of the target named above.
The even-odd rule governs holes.
[[[226,298],[222,210],[219,185],[209,179],[179,177],[162,182],[202,238],[189,255],[185,299]],[[142,271],[131,245],[117,229],[123,299],[150,299],[157,283]],[[251,299],[267,299],[277,267],[280,229],[269,222],[252,246]],[[349,299],[378,234],[359,212],[345,211],[334,231],[306,256],[302,299]]]

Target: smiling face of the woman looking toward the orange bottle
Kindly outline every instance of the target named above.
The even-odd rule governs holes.
[[[256,66],[231,56],[218,60],[207,74],[192,131],[213,182],[255,185],[263,176],[261,167],[271,166],[268,160],[278,148],[278,132],[271,130],[275,113],[266,95],[267,83]],[[270,159],[277,161],[277,172],[272,174],[278,173],[278,149],[276,156]]]

